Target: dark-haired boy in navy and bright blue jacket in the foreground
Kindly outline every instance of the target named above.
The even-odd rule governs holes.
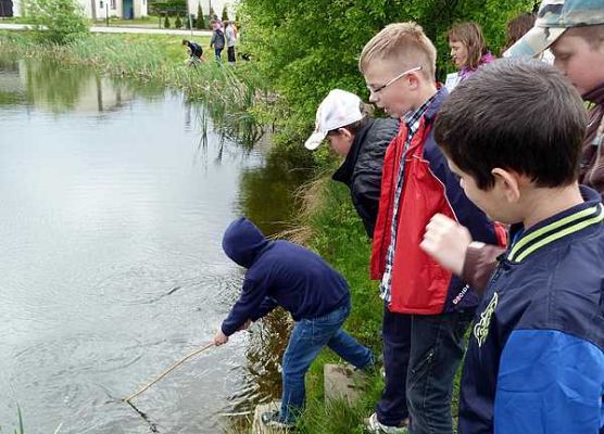
[[[602,433],[604,212],[577,182],[587,119],[565,78],[528,59],[485,66],[439,112],[465,193],[512,225],[470,335],[460,434]]]

